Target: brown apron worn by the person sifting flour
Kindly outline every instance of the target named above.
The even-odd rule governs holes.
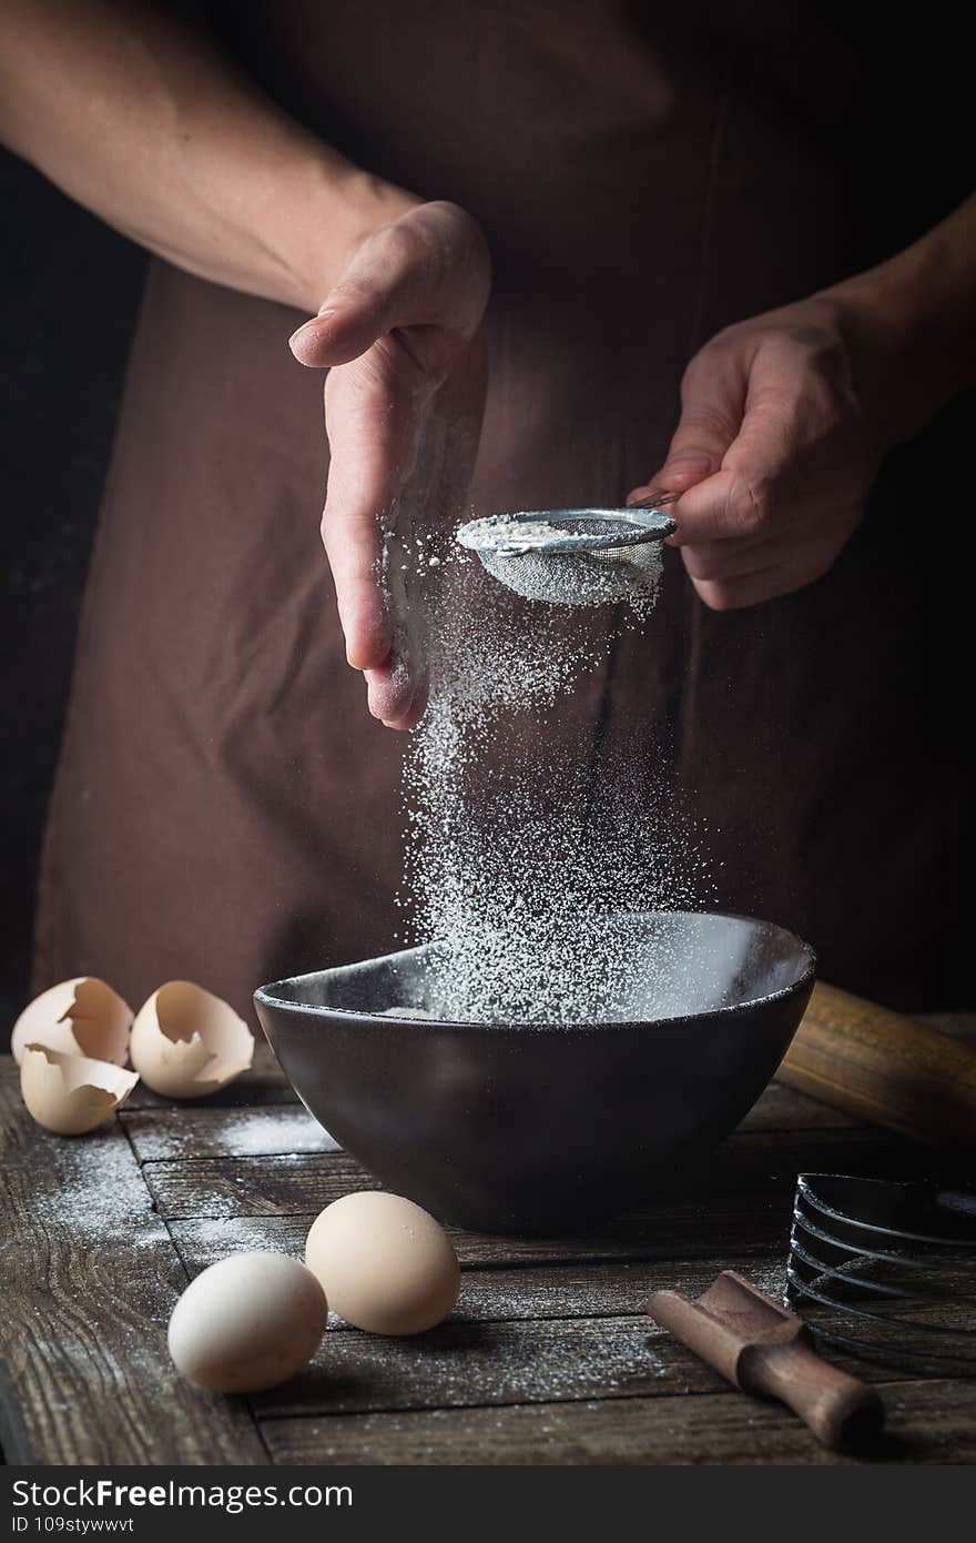
[[[789,8],[694,0],[228,9],[225,42],[296,116],[487,231],[478,512],[623,495],[663,458],[695,347],[917,233],[868,176],[870,49],[837,59],[828,19],[808,35]],[[392,946],[401,741],[344,663],[318,535],[322,383],[287,350],[296,321],[151,265],[39,986],[94,972],[139,1003],[191,977],[247,1011],[261,981]],[[609,744],[655,725],[708,903],[796,927],[842,984],[957,1006],[971,842],[947,670],[964,613],[937,543],[899,535],[905,477],[896,461],[825,579],[760,608],[709,613],[669,554],[651,625],[577,707]]]

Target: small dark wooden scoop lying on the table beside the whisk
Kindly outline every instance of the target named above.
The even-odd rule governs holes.
[[[655,1291],[644,1312],[743,1393],[788,1404],[823,1446],[856,1446],[880,1433],[885,1412],[876,1390],[823,1361],[805,1322],[735,1270],[723,1270],[695,1302]]]

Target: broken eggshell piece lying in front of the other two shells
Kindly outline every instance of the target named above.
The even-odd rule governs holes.
[[[139,1082],[134,1071],[49,1045],[25,1045],[20,1091],[29,1114],[56,1136],[83,1136],[103,1125]]]

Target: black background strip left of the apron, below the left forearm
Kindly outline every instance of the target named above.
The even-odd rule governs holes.
[[[45,807],[145,256],[0,153],[0,1049],[29,995]],[[11,231],[17,230],[17,239]]]

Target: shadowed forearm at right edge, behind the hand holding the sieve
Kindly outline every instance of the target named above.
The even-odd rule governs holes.
[[[904,438],[976,384],[976,198],[920,241],[826,292],[873,363],[891,438]],[[882,378],[887,375],[888,378]]]

